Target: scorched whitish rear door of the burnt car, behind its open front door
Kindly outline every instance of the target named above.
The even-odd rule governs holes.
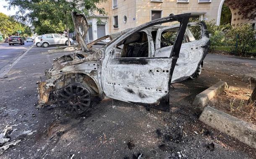
[[[172,79],[172,83],[180,82],[185,79],[188,79],[193,73],[195,73],[197,68],[203,63],[203,60],[209,51],[210,40],[209,40],[209,33],[206,29],[206,24],[203,21],[191,22],[191,23],[188,23],[188,27],[189,26],[200,26],[201,27],[201,39],[194,40],[194,41],[188,41],[181,45],[181,48],[180,48],[181,54],[180,55],[182,56],[182,58],[178,59],[177,67],[175,67],[175,70],[174,70],[174,76]],[[161,28],[157,31],[156,52],[161,52],[160,49],[162,49],[161,48],[162,32],[165,30],[173,29],[173,28],[178,28],[178,25]],[[187,34],[188,31],[189,30],[187,28],[185,31],[185,34]],[[170,47],[170,46],[167,46],[167,47]],[[197,54],[193,54],[193,53],[197,53]],[[187,61],[185,61],[185,60],[187,60]],[[178,73],[178,72],[183,72],[186,74],[182,74],[182,73]]]

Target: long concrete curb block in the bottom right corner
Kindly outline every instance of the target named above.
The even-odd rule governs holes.
[[[207,106],[199,120],[256,149],[256,125]]]

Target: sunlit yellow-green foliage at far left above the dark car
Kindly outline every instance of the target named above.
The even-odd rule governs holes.
[[[18,34],[21,31],[21,36],[31,36],[32,31],[29,26],[19,23],[13,17],[0,13],[0,31],[3,33],[3,38]]]

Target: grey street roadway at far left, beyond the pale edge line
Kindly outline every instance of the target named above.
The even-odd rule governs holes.
[[[18,56],[20,56],[33,42],[26,42],[25,45],[11,45],[8,43],[0,44],[0,70],[8,64],[11,64]],[[0,71],[1,72],[1,71]]]

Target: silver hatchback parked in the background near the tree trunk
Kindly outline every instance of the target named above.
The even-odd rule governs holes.
[[[70,38],[70,43],[73,44],[73,40]],[[68,38],[61,36],[59,34],[44,34],[40,39],[40,44],[43,47],[48,47],[50,45],[68,45]]]

